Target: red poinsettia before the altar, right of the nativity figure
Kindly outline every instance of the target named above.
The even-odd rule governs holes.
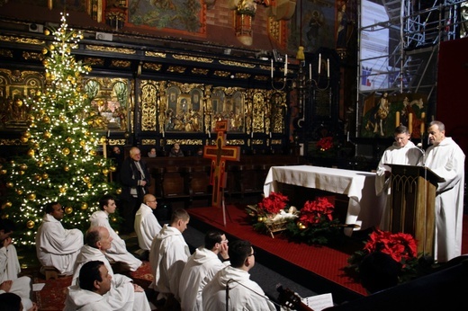
[[[313,201],[307,201],[301,209],[300,222],[304,226],[319,224],[323,220],[332,221],[332,213],[335,207],[329,199],[325,197],[317,198]]]

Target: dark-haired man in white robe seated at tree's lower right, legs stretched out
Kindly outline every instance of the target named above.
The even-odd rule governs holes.
[[[89,220],[91,227],[106,227],[112,236],[112,247],[106,251],[106,257],[111,262],[121,262],[123,267],[130,271],[137,271],[142,262],[127,251],[125,241],[117,235],[109,223],[109,215],[117,208],[115,200],[111,195],[104,195],[99,200],[99,208],[101,210],[95,211]]]

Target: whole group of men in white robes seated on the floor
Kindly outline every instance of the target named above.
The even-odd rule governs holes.
[[[44,208],[42,224],[35,237],[40,272],[48,277],[70,280],[64,310],[224,310],[245,306],[252,310],[276,310],[264,291],[249,279],[255,265],[255,251],[248,241],[229,241],[211,230],[204,244],[190,253],[184,230],[190,221],[185,209],[175,209],[167,224],[161,225],[153,211],[157,200],[143,198],[136,213],[134,229],[144,263],[127,250],[125,241],[110,226],[117,208],[110,195],[99,201],[100,210],[89,218],[83,234],[62,226],[64,209],[59,202]],[[16,309],[40,310],[31,300],[31,278],[18,278],[20,264],[12,239],[14,224],[0,223],[0,260],[5,269],[0,277],[0,299]],[[130,278],[132,271],[149,265],[152,282],[143,289]],[[229,290],[229,299],[226,299]],[[228,304],[228,306],[226,306]]]

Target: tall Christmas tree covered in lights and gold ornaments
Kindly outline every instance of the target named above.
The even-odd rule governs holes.
[[[64,207],[64,227],[85,230],[99,198],[114,191],[107,180],[115,167],[97,153],[105,144],[93,128],[99,115],[81,86],[91,68],[71,55],[82,35],[67,29],[66,14],[57,30],[45,34],[54,37],[42,50],[46,87],[25,100],[31,107],[21,138],[27,153],[0,169],[7,188],[2,218],[14,221],[17,243],[23,245],[34,244],[48,202]]]

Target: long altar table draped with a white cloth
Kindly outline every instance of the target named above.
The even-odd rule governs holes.
[[[311,165],[272,166],[266,175],[265,195],[277,191],[279,182],[346,195],[346,223],[359,226],[354,230],[380,224],[385,201],[375,195],[375,173]],[[345,233],[351,235],[352,229]]]

